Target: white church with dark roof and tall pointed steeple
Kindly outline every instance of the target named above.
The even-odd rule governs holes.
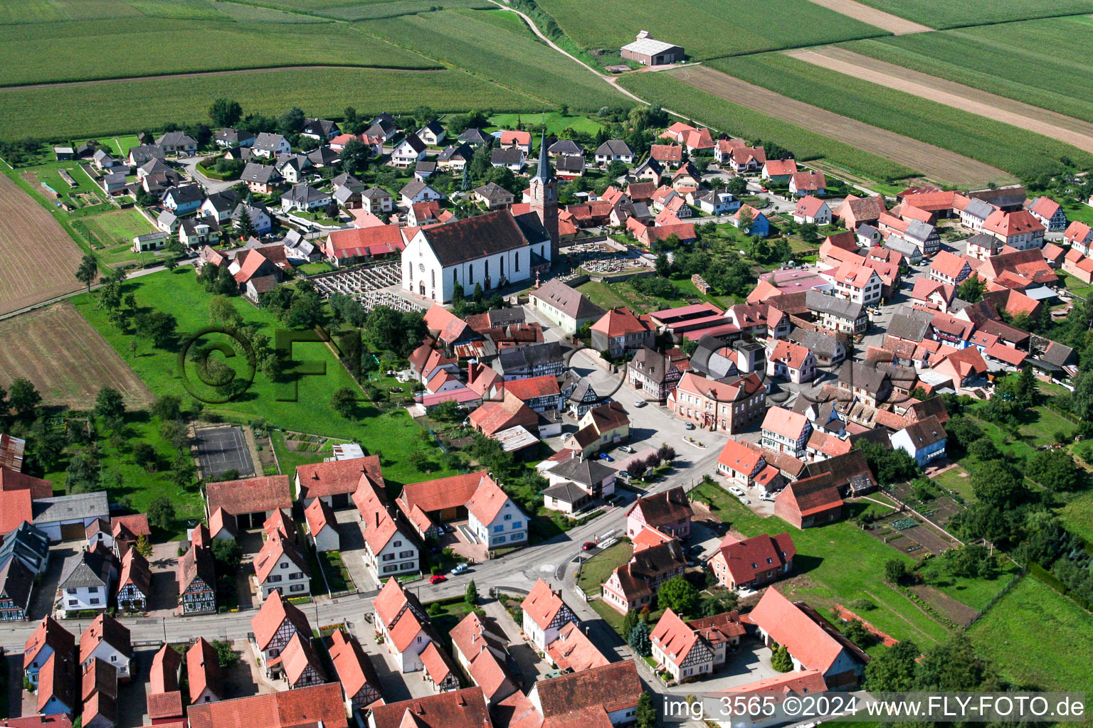
[[[509,210],[422,228],[402,251],[402,288],[449,303],[456,284],[467,296],[534,278],[557,255],[557,183],[546,154],[528,189],[530,211]]]

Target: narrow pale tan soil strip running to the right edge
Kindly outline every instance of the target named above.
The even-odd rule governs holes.
[[[843,48],[789,50],[786,53],[832,71],[978,114],[1093,152],[1093,123],[1088,121],[1022,104],[954,81],[912,71]]]

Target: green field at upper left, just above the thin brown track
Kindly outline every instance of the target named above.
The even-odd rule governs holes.
[[[28,58],[36,61],[27,63]],[[437,68],[348,23],[287,31],[268,23],[193,21],[139,28],[115,21],[0,26],[0,85],[297,64]]]

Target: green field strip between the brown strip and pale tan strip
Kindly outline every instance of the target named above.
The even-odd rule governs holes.
[[[861,81],[781,53],[713,61],[726,73],[806,104],[986,163],[1018,177],[1093,165],[1093,155],[1047,136]],[[999,140],[1006,140],[1000,144]]]

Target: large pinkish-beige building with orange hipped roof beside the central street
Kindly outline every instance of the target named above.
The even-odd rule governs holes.
[[[668,408],[710,431],[737,434],[766,409],[766,387],[755,372],[728,381],[686,372],[668,395]]]

